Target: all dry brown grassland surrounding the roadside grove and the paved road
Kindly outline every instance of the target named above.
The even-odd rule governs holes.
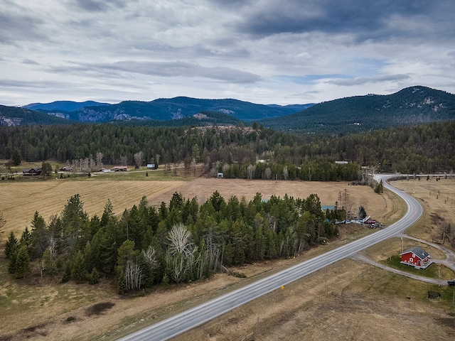
[[[0,249],[9,231],[21,232],[33,213],[47,220],[58,214],[71,195],[80,194],[89,215],[102,213],[107,198],[114,211],[137,205],[143,195],[151,205],[168,202],[175,192],[197,196],[202,202],[215,191],[225,197],[255,193],[307,197],[316,193],[322,205],[333,205],[338,193],[348,190],[353,205],[363,205],[368,215],[384,224],[396,221],[405,212],[402,200],[387,191],[373,193],[366,186],[348,183],[309,183],[300,181],[259,181],[196,178],[191,181],[152,179],[51,180],[45,182],[0,183],[0,211],[6,225],[0,231]],[[455,224],[455,181],[397,181],[402,190],[418,197],[424,217],[407,234],[431,241],[441,220]],[[387,204],[387,205],[386,205]],[[179,286],[157,287],[151,293],[134,297],[117,296],[103,280],[97,286],[74,283],[48,283],[39,276],[21,282],[6,271],[0,251],[0,340],[114,340],[178,311],[232,291],[296,264],[328,248],[358,238],[371,229],[340,227],[340,237],[327,246],[306,251],[295,259],[249,264],[237,271],[247,278],[216,274],[213,278]],[[412,245],[412,242],[407,242]],[[400,251],[395,239],[365,251],[375,259],[385,259]],[[440,256],[436,254],[434,258]],[[440,301],[429,301],[427,291],[442,293]],[[350,259],[329,266],[277,289],[262,298],[232,310],[175,340],[244,340],[254,332],[255,340],[453,340],[455,309],[452,288],[437,287],[390,274],[382,269]],[[212,337],[209,337],[211,335]],[[250,337],[251,338],[251,337]],[[245,339],[245,340],[248,340]]]

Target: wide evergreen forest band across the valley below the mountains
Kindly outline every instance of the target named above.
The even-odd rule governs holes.
[[[455,121],[404,126],[348,136],[297,135],[231,127],[150,127],[114,124],[0,127],[0,158],[107,165],[204,163],[228,178],[360,180],[359,166],[398,173],[455,170]],[[351,161],[346,166],[334,161]],[[86,164],[90,164],[86,162]],[[95,163],[92,163],[95,165]],[[141,166],[141,165],[138,165]],[[87,169],[90,171],[90,169]]]

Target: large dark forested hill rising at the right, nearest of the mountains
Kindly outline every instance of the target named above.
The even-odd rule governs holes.
[[[415,86],[395,94],[335,99],[279,119],[264,119],[261,123],[281,131],[353,134],[450,120],[455,120],[455,94]]]

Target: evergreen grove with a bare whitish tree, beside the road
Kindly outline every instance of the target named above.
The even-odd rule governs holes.
[[[108,276],[125,293],[299,254],[336,237],[334,220],[346,218],[342,205],[323,212],[315,194],[266,201],[257,193],[247,202],[235,196],[226,201],[215,192],[200,205],[196,197],[175,193],[158,210],[146,197],[119,217],[112,210],[108,200],[101,217],[89,217],[74,195],[48,223],[36,212],[21,238],[9,235],[9,273],[24,278],[36,261],[43,277],[97,283]]]

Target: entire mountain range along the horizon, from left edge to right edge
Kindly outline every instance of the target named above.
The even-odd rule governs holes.
[[[175,97],[151,102],[58,101],[25,107],[0,106],[0,125],[113,122],[149,126],[251,124],[299,133],[359,131],[455,119],[455,94],[407,87],[388,95],[368,94],[319,104],[254,104],[237,99]]]

